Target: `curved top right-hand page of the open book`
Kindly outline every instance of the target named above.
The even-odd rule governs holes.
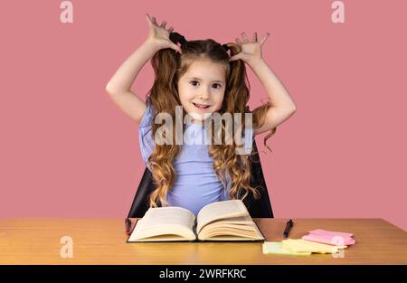
[[[204,225],[220,219],[250,216],[246,206],[241,200],[230,200],[205,205],[196,217],[196,233],[199,234]]]

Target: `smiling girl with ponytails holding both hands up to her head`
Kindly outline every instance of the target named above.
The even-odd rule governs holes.
[[[221,143],[177,144],[175,108],[182,106],[183,121],[185,116],[193,117],[181,123],[184,134],[193,130],[194,140],[207,137],[207,127],[202,122],[213,113],[230,113],[233,122],[240,118],[232,114],[241,113],[241,121],[245,121],[245,115],[251,113],[253,127],[241,126],[243,146],[250,149],[254,136],[270,131],[264,138],[267,146],[266,140],[276,127],[296,111],[288,91],[261,58],[261,45],[269,33],[260,42],[257,33],[252,41],[241,33],[236,43],[220,44],[212,39],[186,41],[181,34],[173,33],[173,27],[166,29],[166,21],[158,25],[155,17],[148,14],[146,17],[147,41],[119,67],[106,90],[138,124],[141,153],[156,186],[149,198],[150,207],[175,205],[197,214],[208,203],[243,200],[249,193],[258,199],[260,193],[250,184],[250,156],[237,154],[238,145],[234,141],[226,143],[222,134],[217,136]],[[156,78],[145,103],[130,88],[148,60]],[[250,84],[246,82],[244,63],[255,72],[271,100],[252,112],[247,107]],[[164,124],[158,118],[160,113],[173,118],[171,130],[160,129]],[[222,129],[227,130],[226,127],[222,123]],[[166,135],[173,141],[170,145],[158,142],[160,137],[168,138]]]

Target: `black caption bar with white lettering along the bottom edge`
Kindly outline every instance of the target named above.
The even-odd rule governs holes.
[[[10,278],[92,278],[151,279],[158,282],[249,282],[253,279],[300,278],[385,278],[407,275],[399,265],[24,265],[0,266],[2,277]],[[136,280],[137,282],[137,280]]]

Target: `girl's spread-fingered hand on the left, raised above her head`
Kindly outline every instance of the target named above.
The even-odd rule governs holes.
[[[173,32],[174,28],[171,26],[169,29],[166,29],[165,20],[158,26],[156,17],[154,16],[150,18],[150,16],[146,14],[146,18],[149,26],[147,41],[153,42],[158,50],[171,48],[174,49],[175,52],[182,54],[181,47],[169,39],[169,34]]]

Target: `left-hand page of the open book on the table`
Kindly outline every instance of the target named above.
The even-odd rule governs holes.
[[[142,219],[138,220],[128,241],[137,241],[160,235],[177,235],[194,239],[195,215],[178,206],[149,208]]]

